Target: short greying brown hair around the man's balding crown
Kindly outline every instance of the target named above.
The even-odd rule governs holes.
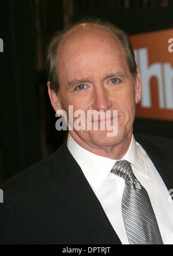
[[[101,21],[97,18],[85,18],[82,19],[76,23],[73,23],[69,27],[63,29],[60,32],[57,32],[55,36],[51,39],[50,45],[47,49],[47,57],[46,57],[46,72],[47,72],[47,78],[48,81],[50,81],[50,87],[53,89],[56,93],[58,93],[59,90],[59,82],[58,82],[58,74],[56,72],[55,67],[55,61],[57,58],[58,53],[58,47],[64,36],[67,34],[67,32],[70,32],[73,30],[74,27],[77,27],[77,25],[89,23],[97,25],[98,27],[103,28],[104,30],[111,32],[121,43],[123,49],[126,53],[127,63],[129,65],[129,70],[131,74],[133,75],[134,79],[136,78],[137,74],[137,64],[134,56],[134,50],[133,46],[131,45],[130,38],[126,34],[125,31],[121,30],[119,27],[116,27],[116,25],[111,24],[108,21]]]

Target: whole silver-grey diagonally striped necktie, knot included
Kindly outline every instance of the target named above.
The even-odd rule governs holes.
[[[163,244],[148,193],[135,177],[130,163],[116,161],[111,173],[125,180],[122,215],[129,244]]]

